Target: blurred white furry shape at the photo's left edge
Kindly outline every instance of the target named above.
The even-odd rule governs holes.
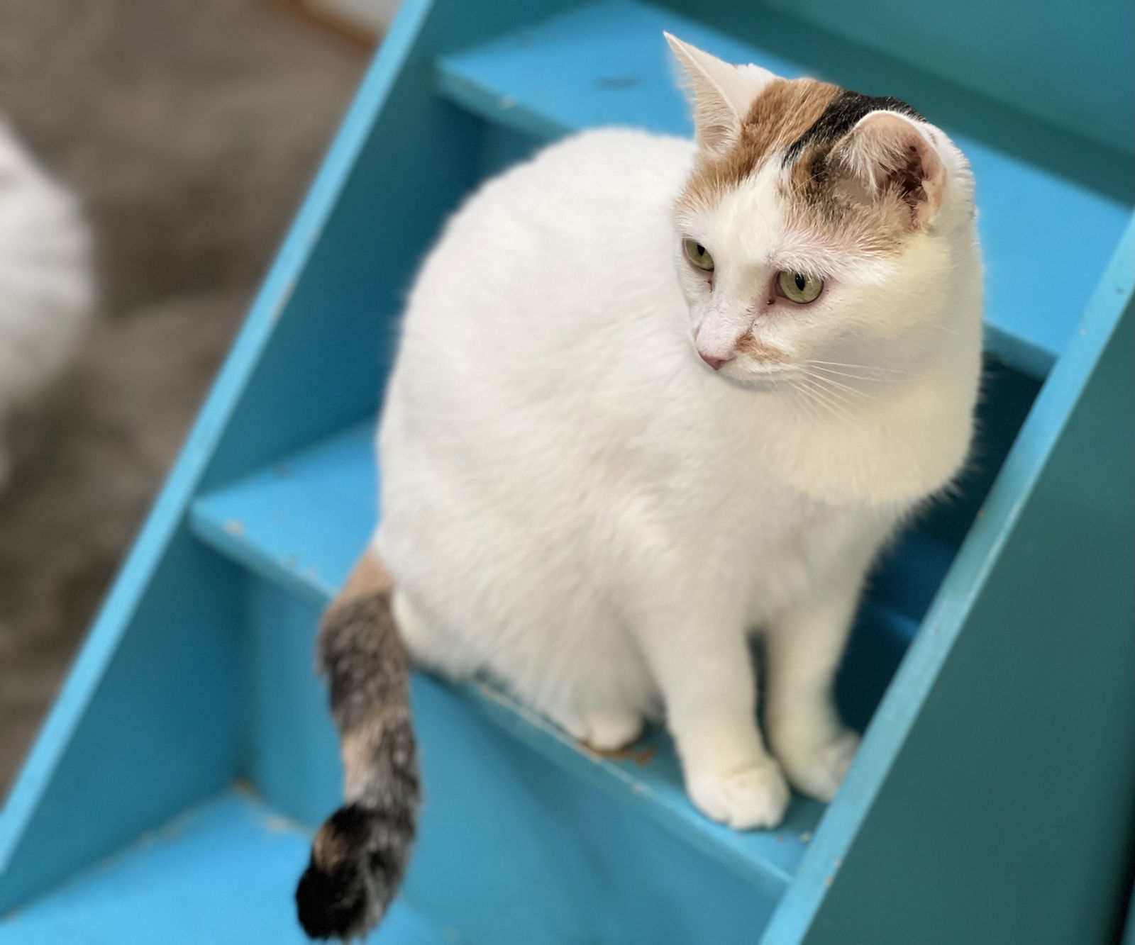
[[[5,428],[64,371],[91,318],[90,239],[68,191],[0,118],[0,488]]]

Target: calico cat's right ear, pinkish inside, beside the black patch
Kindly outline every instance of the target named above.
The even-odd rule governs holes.
[[[928,126],[894,111],[873,111],[832,149],[831,161],[866,200],[898,200],[910,226],[933,222],[945,193],[945,164]]]

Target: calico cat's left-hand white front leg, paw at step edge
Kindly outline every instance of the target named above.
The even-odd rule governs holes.
[[[690,799],[731,827],[775,827],[789,791],[757,727],[743,621],[688,601],[669,615],[655,613],[639,642],[662,690]]]

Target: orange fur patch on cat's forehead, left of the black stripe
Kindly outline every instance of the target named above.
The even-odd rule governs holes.
[[[841,91],[810,78],[771,82],[749,108],[735,144],[721,154],[698,155],[678,208],[716,203],[772,154],[799,141]]]

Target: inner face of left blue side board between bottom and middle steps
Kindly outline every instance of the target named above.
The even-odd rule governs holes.
[[[185,533],[162,551],[111,594],[3,808],[0,913],[236,776],[241,575]]]

